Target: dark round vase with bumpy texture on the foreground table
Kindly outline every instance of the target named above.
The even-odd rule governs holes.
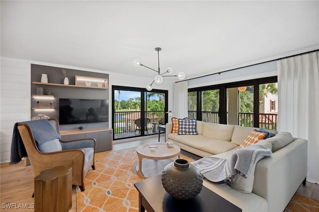
[[[165,191],[177,200],[189,200],[198,195],[203,186],[199,170],[185,159],[176,159],[161,173]]]

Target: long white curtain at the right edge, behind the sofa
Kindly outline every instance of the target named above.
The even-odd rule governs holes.
[[[278,131],[308,140],[307,181],[319,184],[318,51],[278,65]]]

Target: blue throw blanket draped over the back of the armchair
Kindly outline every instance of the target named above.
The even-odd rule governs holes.
[[[24,121],[23,123],[26,123],[30,126],[34,140],[37,144],[42,144],[46,141],[61,138],[61,136],[57,133],[47,119]],[[23,157],[27,157],[27,153],[17,127],[18,123],[15,123],[13,126],[11,141],[10,165],[20,162],[21,158]]]

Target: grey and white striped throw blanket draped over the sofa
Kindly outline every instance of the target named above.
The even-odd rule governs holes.
[[[228,160],[207,156],[192,164],[207,180],[215,183],[230,183],[237,174],[247,178],[253,165],[271,154],[270,149],[255,144],[235,150]]]

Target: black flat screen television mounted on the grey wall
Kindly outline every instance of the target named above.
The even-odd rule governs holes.
[[[106,122],[108,116],[107,100],[59,99],[59,123]]]

